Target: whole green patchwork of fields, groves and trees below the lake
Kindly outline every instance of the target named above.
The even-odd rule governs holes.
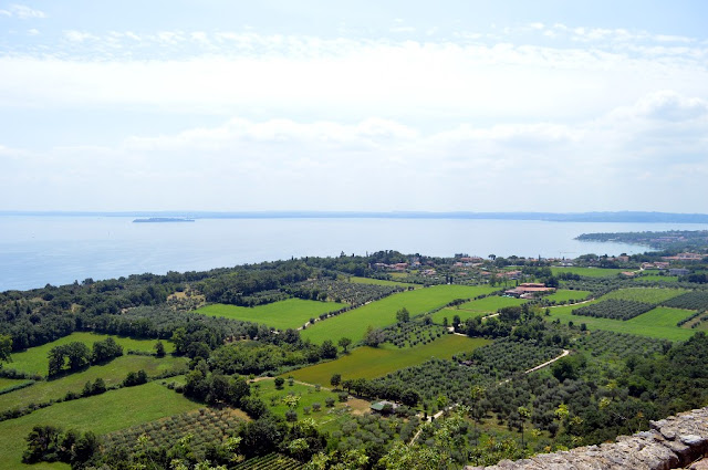
[[[28,293],[0,293],[3,354],[7,357],[13,344],[18,349],[19,345],[29,347],[12,352],[14,363],[3,364],[0,461],[23,468],[19,459],[28,447],[37,460],[60,456],[66,462],[74,458],[62,450],[73,449],[64,443],[73,434],[58,437],[59,450],[38,451],[41,430],[25,445],[32,426],[41,424],[91,430],[100,436],[103,449],[125,452],[94,452],[95,467],[113,468],[121,462],[149,467],[159,460],[157,466],[167,469],[170,461],[175,466],[175,452],[183,451],[194,452],[194,459],[186,463],[189,468],[197,460],[235,468],[235,453],[250,459],[236,468],[300,468],[321,451],[324,453],[314,461],[333,459],[327,468],[341,464],[350,451],[366,457],[372,466],[383,466],[382,456],[391,458],[400,445],[408,445],[405,447],[414,452],[427,448],[440,451],[438,431],[461,418],[459,434],[456,430],[450,436],[459,442],[455,468],[460,468],[483,463],[479,459],[490,451],[485,442],[491,439],[510,449],[498,458],[524,457],[544,449],[607,441],[646,429],[648,420],[667,416],[667,410],[706,403],[708,375],[693,367],[695,361],[705,362],[708,351],[708,338],[694,335],[708,323],[701,321],[708,317],[701,311],[708,305],[708,291],[697,281],[681,278],[674,284],[680,289],[650,288],[658,284],[637,285],[631,279],[613,276],[613,271],[583,268],[575,271],[592,272],[593,276],[561,279],[558,292],[524,301],[491,295],[499,285],[438,284],[408,290],[409,285],[396,282],[353,276],[381,275],[373,268],[377,262],[405,259],[392,252],[368,258],[305,258],[212,273],[145,274],[94,285],[48,285]],[[437,282],[455,282],[452,260],[424,261],[436,270]],[[482,263],[486,270],[498,270],[501,261],[507,262]],[[581,262],[601,264],[596,259]],[[534,263],[519,264],[524,280],[554,281],[548,265]],[[414,279],[413,271],[406,273]],[[421,282],[428,278],[415,274]],[[191,295],[177,302],[174,292]],[[597,299],[582,305],[553,305],[583,301],[591,292]],[[210,295],[211,302],[260,305],[211,304],[197,311],[199,303],[187,302],[195,295]],[[480,318],[510,306],[513,309],[494,318]],[[71,311],[59,315],[63,309]],[[595,316],[573,315],[579,309]],[[74,317],[67,322],[69,315]],[[465,321],[455,323],[458,334],[450,334],[442,318],[451,324],[457,315]],[[306,324],[313,317],[317,321]],[[272,332],[264,326],[287,330],[304,324],[298,332]],[[115,336],[126,353],[138,353],[88,365],[76,359],[82,348],[66,347],[63,351],[70,364],[64,368],[73,373],[60,373],[51,380],[11,378],[24,377],[25,372],[44,373],[53,346],[71,342],[92,346],[108,337],[85,333],[91,328],[136,337],[173,337],[174,344],[164,344],[176,354],[157,357],[156,340]],[[368,328],[375,330],[362,342]],[[43,344],[62,335],[60,341]],[[246,337],[249,340],[240,341]],[[535,368],[550,359],[552,364]],[[126,380],[138,369],[148,377],[164,374],[169,378],[144,385]],[[698,377],[691,375],[696,373]],[[331,384],[335,375],[341,380],[337,386]],[[144,379],[142,375],[138,383]],[[114,386],[121,388],[111,389]],[[607,407],[596,406],[603,398]],[[379,400],[400,406],[369,414],[369,404]],[[466,416],[436,417],[431,425],[420,426],[424,414],[456,404],[470,407],[456,408],[464,409]],[[208,410],[195,412],[201,407]],[[580,419],[560,419],[558,411],[563,407]],[[530,414],[524,417],[522,408]],[[632,412],[631,422],[613,418],[623,412]],[[524,419],[525,429],[538,429],[540,435],[520,443]],[[417,443],[409,445],[418,431]],[[102,436],[106,432],[112,435]],[[177,443],[186,432],[198,435],[188,445],[191,450],[181,447],[185,442]],[[238,439],[225,441],[232,434],[242,439],[240,443]],[[145,442],[135,446],[143,435],[142,441],[152,442],[149,450]],[[308,448],[311,453],[303,453]],[[67,467],[40,462],[35,468]]]

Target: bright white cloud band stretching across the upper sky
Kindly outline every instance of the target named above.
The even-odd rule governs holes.
[[[657,56],[642,50],[628,55],[603,49],[511,43],[323,40],[228,32],[159,36],[147,40],[165,46],[210,41],[231,52],[168,61],[0,58],[4,71],[0,103],[221,114],[246,109],[322,118],[373,114],[454,122],[579,118],[663,88],[708,98],[706,56],[696,48]],[[128,33],[98,40],[73,30],[65,38],[76,46],[102,43],[103,51],[112,48],[117,53],[131,53],[129,43],[143,46],[146,40],[135,34],[128,38]]]

